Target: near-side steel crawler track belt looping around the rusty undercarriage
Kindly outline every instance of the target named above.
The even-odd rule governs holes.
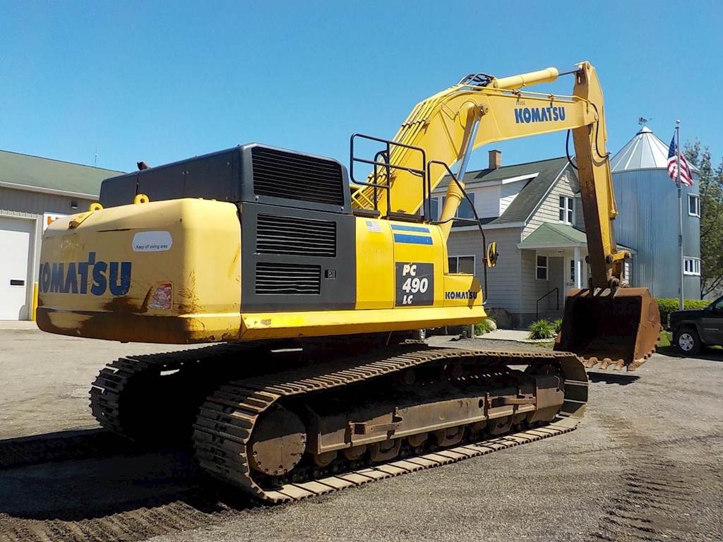
[[[564,402],[550,423],[533,427],[511,426],[512,430],[507,434],[487,438],[472,434],[450,447],[432,444],[427,447],[400,447],[398,455],[387,461],[335,460],[329,465],[319,466],[317,463],[292,469],[277,477],[260,474],[260,463],[254,468],[256,458],[252,455],[255,452],[249,453],[253,447],[254,430],[264,416],[270,415],[274,407],[279,408],[285,401],[296,400],[298,403],[307,395],[311,397],[330,390],[346,389],[352,384],[401,375],[408,369],[428,368],[435,364],[445,366],[455,362],[480,367],[526,365],[533,374],[535,371],[545,374],[550,366],[556,366],[564,378]],[[237,486],[265,502],[293,502],[572,431],[583,416],[586,401],[586,372],[578,358],[570,353],[458,350],[407,344],[378,350],[361,356],[361,359],[336,359],[302,369],[228,382],[203,403],[193,426],[192,438],[197,462],[214,478]],[[392,439],[390,437],[388,442]],[[301,440],[304,446],[303,437]],[[301,456],[301,453],[298,455]]]

